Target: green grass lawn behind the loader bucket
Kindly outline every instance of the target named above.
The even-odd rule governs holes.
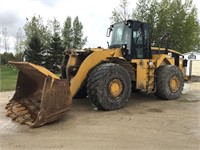
[[[60,74],[56,74],[60,77]],[[18,76],[18,69],[15,67],[1,66],[0,67],[0,91],[15,90]]]

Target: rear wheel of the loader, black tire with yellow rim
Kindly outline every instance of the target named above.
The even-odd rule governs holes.
[[[177,99],[181,95],[184,86],[184,77],[177,66],[165,65],[156,69],[156,92],[155,96],[163,100]],[[172,82],[175,82],[173,87]]]

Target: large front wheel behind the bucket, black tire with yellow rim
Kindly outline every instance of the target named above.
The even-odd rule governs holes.
[[[117,85],[118,90],[112,91]],[[111,92],[112,91],[112,92]],[[93,69],[87,80],[88,98],[101,110],[124,107],[131,93],[131,78],[128,71],[113,63],[106,63]]]

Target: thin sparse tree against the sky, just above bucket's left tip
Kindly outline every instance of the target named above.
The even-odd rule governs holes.
[[[23,52],[24,52],[24,43],[23,43],[23,31],[21,28],[18,29],[17,33],[16,33],[16,42],[15,42],[15,57],[18,61],[22,61],[23,60]]]

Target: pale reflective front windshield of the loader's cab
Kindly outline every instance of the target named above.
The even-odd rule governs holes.
[[[129,27],[125,25],[124,22],[115,24],[113,27],[110,45],[127,44],[128,46],[131,39],[131,31],[129,32],[129,30]]]

